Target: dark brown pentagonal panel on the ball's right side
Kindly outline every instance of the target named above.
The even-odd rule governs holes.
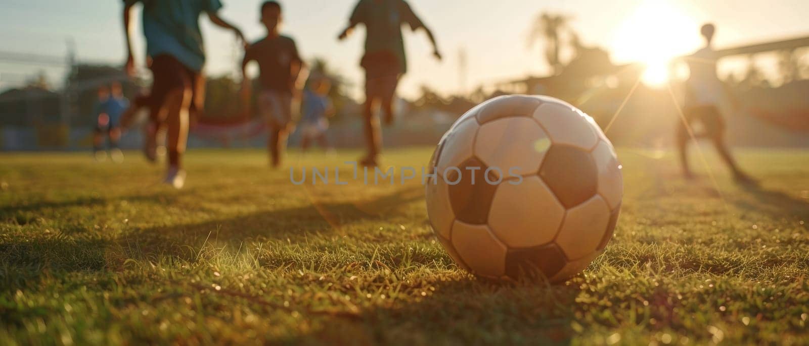
[[[540,177],[568,208],[587,201],[598,190],[598,169],[590,152],[566,145],[550,148],[542,162]]]

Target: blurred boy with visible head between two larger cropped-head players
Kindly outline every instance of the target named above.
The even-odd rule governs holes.
[[[286,152],[286,140],[294,129],[292,109],[294,99],[299,100],[303,87],[303,60],[294,40],[280,34],[281,4],[268,1],[261,4],[261,23],[267,29],[265,38],[245,49],[242,60],[242,93],[248,98],[250,79],[247,65],[255,60],[259,67],[260,90],[258,108],[269,125],[270,163],[277,168]],[[299,101],[295,101],[299,104]]]

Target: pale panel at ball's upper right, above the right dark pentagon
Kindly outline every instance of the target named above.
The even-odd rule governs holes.
[[[558,103],[544,103],[534,112],[534,119],[548,131],[553,144],[570,145],[589,152],[599,140],[587,119],[575,109]]]

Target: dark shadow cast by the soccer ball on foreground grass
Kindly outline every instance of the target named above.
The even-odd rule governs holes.
[[[462,279],[432,288],[417,302],[372,308],[355,320],[332,319],[303,338],[331,344],[570,344],[574,334],[574,286]]]

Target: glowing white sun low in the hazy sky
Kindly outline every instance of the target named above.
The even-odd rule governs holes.
[[[643,83],[663,86],[669,79],[671,60],[695,47],[693,32],[697,27],[693,17],[676,2],[646,0],[616,31],[613,56],[618,61],[646,65]]]

